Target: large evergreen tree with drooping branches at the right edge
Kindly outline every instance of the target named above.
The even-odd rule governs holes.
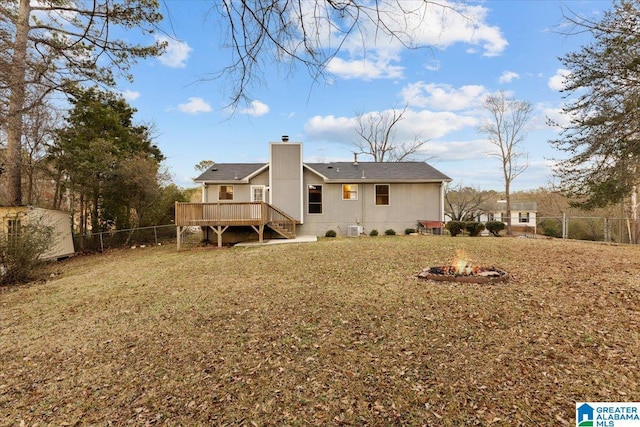
[[[551,142],[569,155],[556,168],[561,188],[591,209],[622,201],[638,183],[640,1],[621,0],[600,22],[572,21],[593,41],[561,58],[570,123]]]

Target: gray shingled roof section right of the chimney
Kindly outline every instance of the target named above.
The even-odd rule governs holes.
[[[331,181],[451,181],[451,178],[424,162],[334,162],[305,165]]]

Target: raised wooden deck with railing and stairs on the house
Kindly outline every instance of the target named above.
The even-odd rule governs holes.
[[[222,246],[222,234],[230,226],[250,226],[263,241],[264,227],[275,230],[282,237],[296,237],[296,220],[281,210],[264,202],[176,202],[176,226],[178,227],[178,249],[181,235],[186,227],[209,227],[218,235],[218,246]]]

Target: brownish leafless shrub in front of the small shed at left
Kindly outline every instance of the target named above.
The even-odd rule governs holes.
[[[20,219],[16,218],[16,222]],[[0,284],[28,282],[36,277],[40,259],[54,244],[53,227],[29,220],[14,234],[0,230]]]

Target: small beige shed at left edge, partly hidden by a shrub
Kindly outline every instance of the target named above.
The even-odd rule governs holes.
[[[3,233],[8,238],[18,235],[21,227],[29,222],[37,222],[38,225],[53,229],[54,242],[42,254],[41,259],[61,259],[75,253],[71,215],[68,212],[33,206],[0,207],[0,233]]]

